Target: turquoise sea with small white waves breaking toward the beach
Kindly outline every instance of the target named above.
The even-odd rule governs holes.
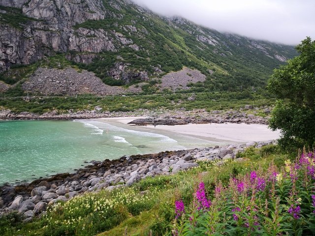
[[[210,145],[217,143],[114,122],[1,121],[0,185],[74,172],[92,160]]]

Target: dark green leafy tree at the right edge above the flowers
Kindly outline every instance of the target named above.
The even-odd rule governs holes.
[[[311,148],[315,144],[315,41],[307,37],[296,49],[300,55],[275,69],[268,81],[268,90],[280,99],[269,127],[281,130],[281,146]]]

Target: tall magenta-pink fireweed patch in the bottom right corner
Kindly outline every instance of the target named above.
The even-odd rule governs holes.
[[[172,236],[196,235],[315,235],[315,155],[304,152],[278,168],[258,167],[215,181],[212,194],[196,184],[193,201],[179,196]]]

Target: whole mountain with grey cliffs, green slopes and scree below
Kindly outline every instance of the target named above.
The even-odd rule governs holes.
[[[87,88],[99,80],[110,86],[153,81],[141,84],[147,92],[156,90],[151,86],[264,88],[273,69],[295,56],[293,46],[162,17],[129,0],[0,0],[0,90],[109,93],[109,87]],[[85,70],[93,73],[81,75]]]

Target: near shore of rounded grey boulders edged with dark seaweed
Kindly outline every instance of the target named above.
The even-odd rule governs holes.
[[[122,156],[115,160],[93,162],[93,165],[77,170],[73,174],[57,174],[18,186],[2,186],[0,215],[16,210],[24,214],[25,221],[30,221],[32,217],[45,214],[48,205],[57,201],[67,201],[84,192],[131,186],[146,177],[172,175],[181,170],[197,167],[198,160],[234,159],[236,154],[243,152],[245,148],[261,148],[269,144],[275,144],[275,141]]]

